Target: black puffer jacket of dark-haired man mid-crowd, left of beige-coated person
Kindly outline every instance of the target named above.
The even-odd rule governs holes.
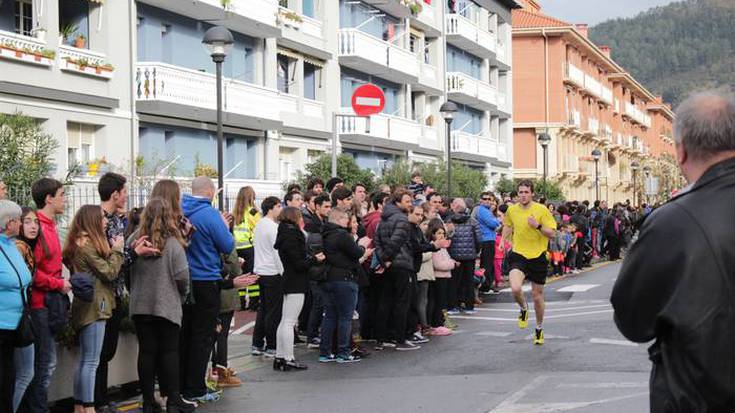
[[[390,261],[395,268],[414,271],[412,233],[406,213],[395,204],[386,205],[374,240],[380,262]]]

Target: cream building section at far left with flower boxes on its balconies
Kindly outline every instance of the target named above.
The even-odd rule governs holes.
[[[0,112],[59,141],[60,177],[132,165],[133,13],[120,1],[0,1]]]

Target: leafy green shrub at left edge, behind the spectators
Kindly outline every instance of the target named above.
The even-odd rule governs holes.
[[[0,179],[8,186],[11,199],[20,205],[31,204],[30,188],[51,173],[58,147],[35,119],[20,112],[0,113]]]

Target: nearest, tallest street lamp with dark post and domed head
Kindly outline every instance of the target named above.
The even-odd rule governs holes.
[[[220,211],[224,211],[225,194],[224,194],[224,136],[222,134],[222,62],[227,57],[227,52],[232,48],[235,39],[232,33],[222,26],[214,26],[204,33],[202,44],[212,56],[217,67],[217,187],[218,203]]]

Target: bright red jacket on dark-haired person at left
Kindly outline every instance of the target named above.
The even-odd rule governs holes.
[[[39,238],[33,255],[36,260],[36,274],[33,275],[33,294],[31,308],[46,308],[46,292],[61,291],[64,279],[61,275],[61,242],[56,232],[56,223],[38,211],[43,240]],[[44,248],[43,244],[46,244]]]

